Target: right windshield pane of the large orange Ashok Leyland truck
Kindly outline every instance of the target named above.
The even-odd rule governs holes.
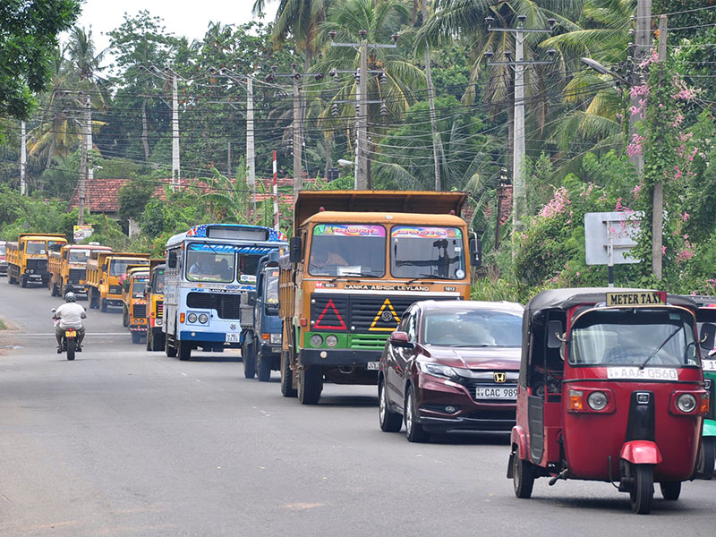
[[[395,277],[465,277],[463,232],[456,227],[393,227],[390,254]]]

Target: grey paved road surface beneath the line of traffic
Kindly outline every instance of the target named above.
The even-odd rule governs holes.
[[[427,445],[379,430],[374,388],[317,407],[243,379],[236,354],[179,362],[90,311],[86,350],[55,354],[46,289],[0,279],[0,535],[713,535],[716,481],[634,516],[608,483],[535,483],[507,443]],[[657,494],[657,496],[659,496]],[[661,498],[661,497],[660,497]]]

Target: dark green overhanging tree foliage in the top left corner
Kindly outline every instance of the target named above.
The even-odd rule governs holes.
[[[0,3],[0,115],[27,119],[33,93],[50,78],[57,34],[80,14],[78,0],[4,0]]]

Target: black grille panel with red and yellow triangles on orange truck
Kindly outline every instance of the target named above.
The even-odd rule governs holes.
[[[455,300],[453,296],[378,294],[311,294],[311,331],[343,331],[384,334],[397,328],[410,304],[430,300]]]

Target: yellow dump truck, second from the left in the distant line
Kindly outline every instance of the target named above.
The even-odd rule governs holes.
[[[61,251],[50,251],[47,282],[52,296],[87,293],[87,260],[93,251],[112,251],[98,244],[65,244]]]

